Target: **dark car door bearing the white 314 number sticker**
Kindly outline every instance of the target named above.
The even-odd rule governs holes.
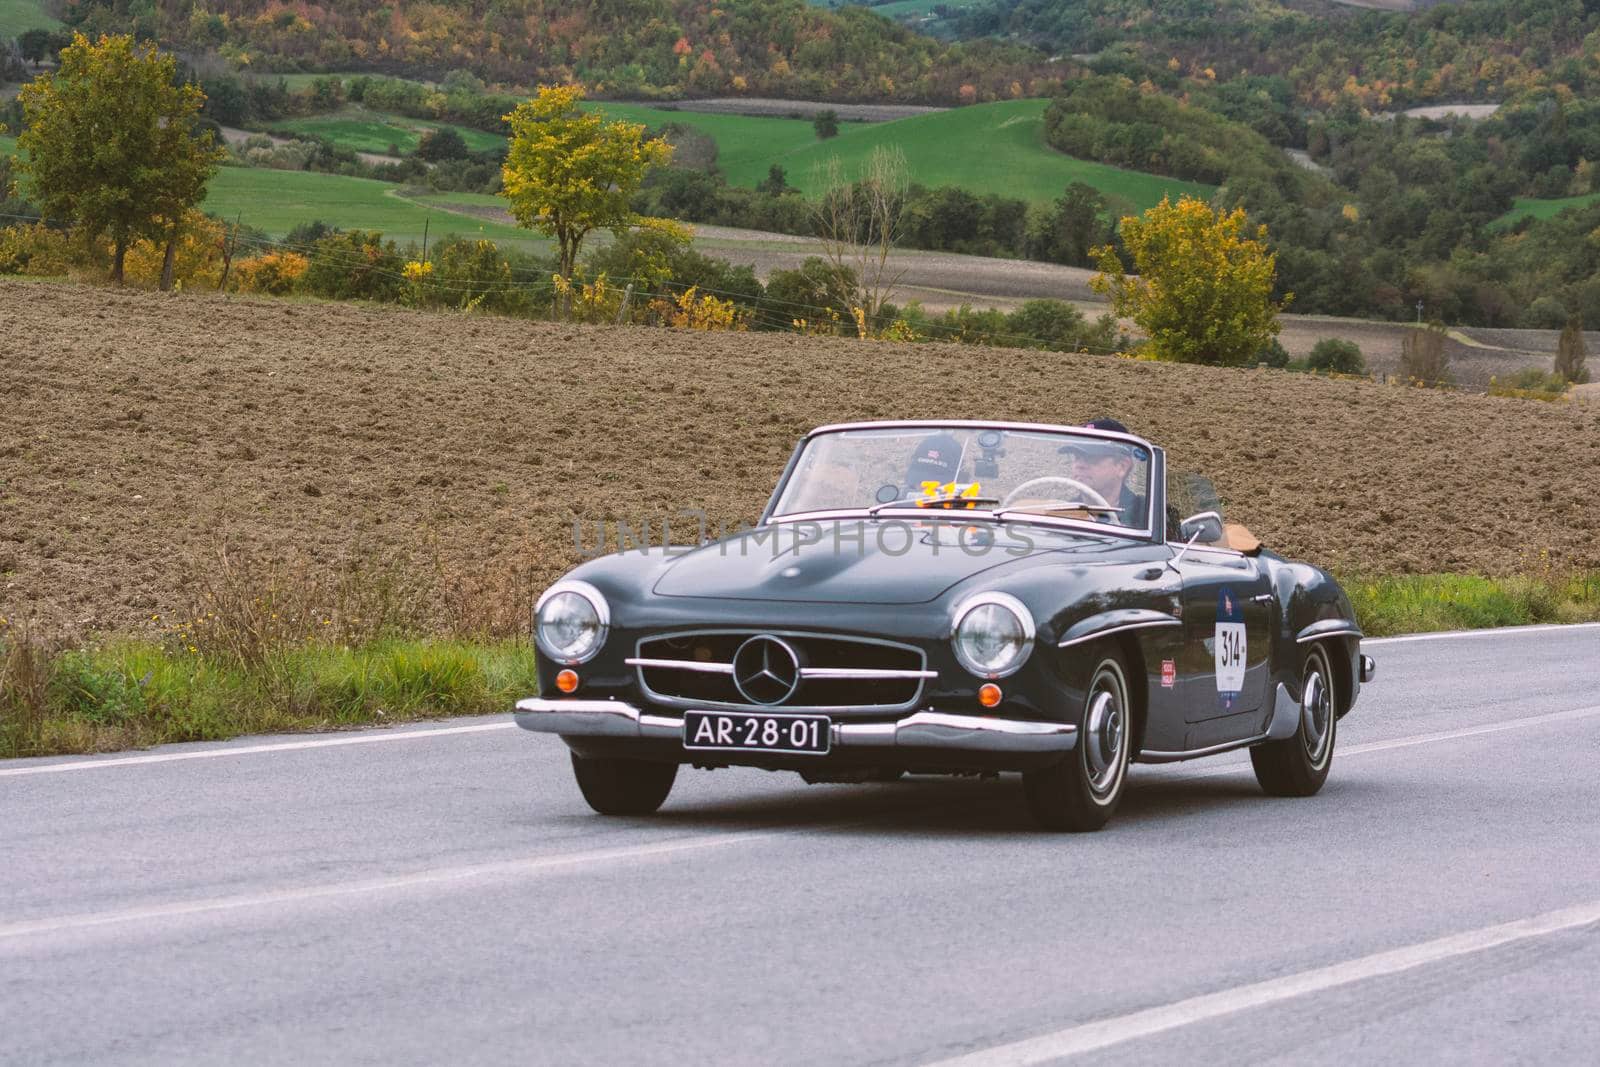
[[[1184,720],[1259,712],[1272,643],[1266,568],[1253,557],[1203,544],[1184,550],[1176,568],[1184,605]]]

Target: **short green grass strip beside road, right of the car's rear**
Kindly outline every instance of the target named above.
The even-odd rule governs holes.
[[[1368,637],[1600,621],[1600,573],[1566,577],[1398,574],[1339,579]]]

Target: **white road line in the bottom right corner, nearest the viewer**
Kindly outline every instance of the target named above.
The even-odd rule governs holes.
[[[1600,923],[1600,901],[1557,912],[1544,912],[1542,915],[1498,926],[1482,926],[1462,934],[1406,945],[1405,949],[1376,952],[1344,963],[1286,974],[1264,982],[1235,985],[1234,989],[1190,997],[1158,1008],[1133,1011],[1096,1022],[1083,1022],[1053,1033],[1027,1038],[1026,1041],[997,1045],[968,1056],[938,1061],[931,1067],[1000,1067],[1002,1064],[1018,1067],[1022,1064],[1042,1064],[1064,1056],[1078,1056],[1110,1048],[1112,1045],[1150,1037],[1152,1033],[1176,1030],[1195,1022],[1206,1022],[1219,1016],[1264,1008],[1294,997],[1306,997],[1339,985],[1398,974],[1430,963],[1453,960],[1474,952],[1486,952],[1533,937],[1547,937],[1594,923]]]

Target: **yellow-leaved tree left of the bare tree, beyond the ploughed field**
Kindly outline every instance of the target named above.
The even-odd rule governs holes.
[[[565,282],[589,234],[627,234],[638,221],[629,198],[645,171],[672,160],[672,146],[646,141],[643,125],[581,112],[582,98],[581,86],[549,85],[506,115],[510,150],[501,195],[520,226],[555,238],[557,274]]]

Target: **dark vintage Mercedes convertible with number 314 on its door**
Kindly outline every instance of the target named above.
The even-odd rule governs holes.
[[[1323,571],[1262,550],[1109,430],[826,426],[758,525],[589,560],[539,597],[539,696],[584,798],[654,811],[680,765],[808,782],[1021,773],[1094,830],[1130,761],[1248,747],[1307,797],[1374,664]]]

